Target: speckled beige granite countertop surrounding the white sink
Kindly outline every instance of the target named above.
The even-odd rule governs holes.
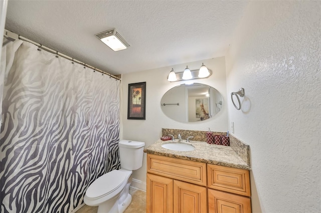
[[[178,142],[178,139],[175,141]],[[173,141],[163,141],[158,139],[148,147],[144,148],[144,152],[233,168],[251,169],[250,166],[230,146],[208,144],[203,141],[193,140],[191,140],[191,142],[186,142],[186,140],[183,140],[183,143],[195,146],[195,150],[175,151],[162,147],[162,144],[171,142]]]

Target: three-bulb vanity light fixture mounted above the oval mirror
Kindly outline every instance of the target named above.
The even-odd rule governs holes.
[[[207,78],[212,75],[212,71],[208,69],[204,63],[200,69],[190,70],[188,66],[186,66],[183,72],[175,72],[174,69],[170,71],[167,80],[170,82],[180,81],[180,80],[193,80],[200,78]]]

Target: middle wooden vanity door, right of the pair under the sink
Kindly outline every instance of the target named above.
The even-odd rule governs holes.
[[[207,212],[206,187],[174,180],[174,212]]]

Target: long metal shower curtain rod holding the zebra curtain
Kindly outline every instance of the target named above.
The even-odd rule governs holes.
[[[73,57],[70,57],[70,56],[68,56],[68,55],[66,55],[66,54],[63,54],[63,53],[61,53],[61,52],[58,52],[58,51],[56,51],[56,50],[54,50],[54,49],[52,49],[52,48],[49,48],[49,47],[47,47],[47,46],[43,46],[43,45],[40,44],[40,43],[37,43],[37,42],[35,42],[35,41],[33,41],[33,40],[30,40],[30,39],[28,39],[28,38],[26,38],[26,37],[23,37],[23,36],[21,36],[21,35],[19,35],[19,34],[16,34],[16,33],[12,32],[12,31],[9,31],[9,30],[7,30],[7,29],[5,29],[4,37],[5,37],[7,40],[3,43],[3,46],[5,46],[5,45],[6,45],[7,43],[9,43],[10,41],[14,41],[14,40],[17,40],[17,39],[24,40],[24,41],[28,41],[28,42],[30,42],[30,43],[35,44],[35,45],[38,46],[39,48],[48,51],[48,52],[51,52],[51,53],[56,54],[56,55],[59,55],[59,56],[64,57],[64,58],[66,58],[66,59],[68,59],[68,60],[71,60],[71,61],[73,61],[73,62],[79,63],[79,64],[83,65],[84,67],[88,67],[88,68],[93,69],[94,71],[99,71],[99,72],[101,72],[101,73],[103,73],[103,74],[107,74],[107,75],[109,75],[110,77],[113,77],[113,78],[115,78],[115,79],[117,79],[117,80],[121,80],[120,77],[117,77],[117,76],[115,76],[115,75],[112,75],[112,74],[110,74],[110,73],[108,73],[108,72],[105,72],[105,71],[103,71],[103,70],[101,70],[101,69],[98,69],[98,68],[96,68],[96,67],[94,67],[94,66],[88,65],[88,64],[86,64],[86,63],[84,63],[84,62],[82,62],[82,61],[80,61],[80,60],[77,60],[77,59],[75,59],[75,58],[73,58]],[[58,56],[56,56],[56,57],[58,57]]]

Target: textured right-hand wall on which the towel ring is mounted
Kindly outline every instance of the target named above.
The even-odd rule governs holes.
[[[234,135],[250,145],[253,212],[321,212],[320,1],[251,1],[226,55]]]

